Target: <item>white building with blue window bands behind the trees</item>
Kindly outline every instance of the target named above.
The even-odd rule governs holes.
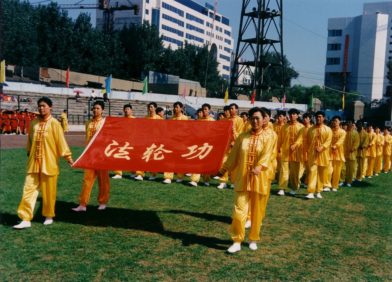
[[[131,2],[140,6],[139,15],[134,15],[133,10],[116,11],[114,29],[122,28],[124,24],[142,24],[143,20],[147,20],[150,24],[159,27],[163,35],[163,46],[167,48],[170,44],[173,50],[183,45],[185,40],[202,46],[208,45],[211,38],[211,51],[220,63],[218,70],[223,78],[229,80],[230,54],[234,40],[231,37],[229,19],[219,13],[215,15],[214,30],[211,29],[214,14],[212,5],[206,3],[204,7],[192,0],[131,0]],[[127,0],[112,0],[110,4],[129,5]],[[219,4],[217,11],[219,11]],[[96,26],[102,27],[102,22],[103,13],[97,10]]]

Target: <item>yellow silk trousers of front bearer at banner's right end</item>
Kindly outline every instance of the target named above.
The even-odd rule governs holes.
[[[230,237],[234,243],[241,243],[245,238],[245,222],[247,220],[249,203],[250,213],[252,214],[250,221],[252,223],[248,238],[255,241],[260,240],[259,233],[262,215],[264,214],[262,207],[265,196],[252,191],[234,191],[234,213],[230,228]]]

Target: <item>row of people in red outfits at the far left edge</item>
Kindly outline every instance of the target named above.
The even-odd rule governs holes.
[[[30,123],[37,116],[26,110],[0,110],[0,134],[29,134]]]

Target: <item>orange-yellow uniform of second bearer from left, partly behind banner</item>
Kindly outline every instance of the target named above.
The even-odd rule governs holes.
[[[103,117],[97,119],[90,119],[86,123],[86,147],[89,145],[91,139],[101,127],[103,123]],[[98,176],[98,202],[100,204],[106,204],[109,201],[110,196],[110,178],[109,170],[84,170],[82,193],[79,196],[79,204],[81,206],[87,206],[90,200],[91,190],[93,189],[95,178]]]

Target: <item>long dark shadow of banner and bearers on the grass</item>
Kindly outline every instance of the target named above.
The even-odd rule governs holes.
[[[32,222],[43,222],[42,215],[42,198],[38,198],[37,202],[40,203],[38,210],[36,211],[35,218]],[[172,239],[181,240],[183,246],[190,246],[193,244],[199,244],[206,246],[207,248],[225,250],[227,245],[231,244],[231,240],[222,240],[216,237],[207,237],[185,232],[167,231],[165,230],[163,223],[161,222],[157,211],[148,210],[129,210],[125,208],[111,208],[108,207],[105,210],[98,210],[96,206],[87,206],[85,212],[73,212],[71,208],[75,208],[77,205],[74,202],[56,202],[56,217],[55,222],[66,222],[70,224],[81,224],[84,226],[96,226],[96,227],[114,227],[124,229],[142,230],[151,233],[157,233]],[[162,212],[162,211],[159,211]],[[172,212],[172,211],[169,211]],[[185,211],[173,211],[173,213],[187,213]],[[189,213],[194,216],[201,217],[202,213]],[[213,220],[216,215],[207,215],[205,218]],[[0,215],[1,225],[13,226],[20,219],[17,215],[9,213],[1,213]],[[219,218],[219,216],[218,216]],[[227,219],[224,219],[225,222]]]

